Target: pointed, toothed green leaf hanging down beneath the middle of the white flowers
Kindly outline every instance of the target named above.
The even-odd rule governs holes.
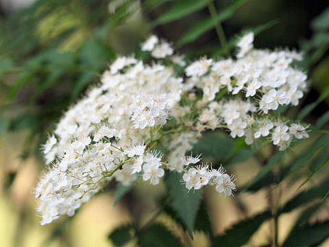
[[[182,176],[177,172],[171,172],[164,177],[164,183],[168,189],[170,205],[178,217],[185,224],[187,230],[193,236],[195,219],[202,200],[202,191],[188,191],[180,180]]]

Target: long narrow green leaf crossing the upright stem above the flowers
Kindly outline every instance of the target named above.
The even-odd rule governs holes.
[[[177,42],[177,46],[181,47],[186,43],[190,43],[193,40],[197,39],[199,36],[211,30],[212,27],[215,26],[215,23],[219,23],[221,21],[225,21],[226,19],[230,18],[234,11],[238,9],[245,0],[235,0],[230,5],[227,5],[222,10],[220,10],[217,14],[217,18],[212,20],[211,17],[206,18],[202,21],[199,21],[192,25],[188,30],[180,37]]]

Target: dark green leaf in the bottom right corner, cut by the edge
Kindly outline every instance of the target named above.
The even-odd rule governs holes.
[[[315,246],[329,237],[329,220],[293,228],[282,247]]]

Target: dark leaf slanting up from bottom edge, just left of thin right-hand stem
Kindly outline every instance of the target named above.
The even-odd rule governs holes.
[[[249,241],[250,237],[254,235],[259,226],[270,217],[271,212],[265,211],[250,219],[242,220],[241,222],[234,224],[223,235],[215,237],[212,246],[241,247]]]

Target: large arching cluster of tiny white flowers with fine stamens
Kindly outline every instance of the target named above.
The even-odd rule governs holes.
[[[49,167],[35,189],[41,224],[74,215],[110,180],[130,185],[141,176],[157,185],[166,170],[182,173],[187,189],[214,185],[231,196],[232,176],[186,156],[208,129],[229,130],[248,144],[268,137],[280,150],[308,137],[306,127],[270,115],[280,105],[298,104],[306,90],[306,75],[291,67],[300,55],[254,49],[253,38],[241,39],[236,59],[204,57],[187,67],[184,56],[156,36],[141,46],[151,62],[117,58],[42,147]]]

